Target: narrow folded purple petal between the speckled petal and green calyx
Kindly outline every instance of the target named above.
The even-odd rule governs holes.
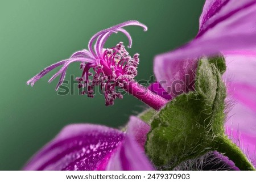
[[[155,170],[144,154],[144,145],[150,126],[138,117],[131,116],[128,124],[126,138],[117,152],[109,160],[107,170]],[[137,142],[135,142],[137,141]]]

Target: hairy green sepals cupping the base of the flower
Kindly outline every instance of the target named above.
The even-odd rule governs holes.
[[[215,149],[214,140],[224,135],[223,65],[222,58],[199,60],[195,91],[177,96],[155,115],[146,153],[156,167],[171,170],[184,160]]]

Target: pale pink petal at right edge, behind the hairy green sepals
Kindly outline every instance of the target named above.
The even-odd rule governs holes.
[[[228,93],[234,107],[228,112],[226,134],[243,150],[256,166],[256,57],[226,55]]]

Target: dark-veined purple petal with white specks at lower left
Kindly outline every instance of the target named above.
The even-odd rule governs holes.
[[[26,164],[24,170],[96,170],[104,168],[125,134],[106,126],[66,126]]]

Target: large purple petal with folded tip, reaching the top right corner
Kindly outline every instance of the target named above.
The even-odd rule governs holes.
[[[200,18],[200,31],[187,45],[155,57],[154,73],[164,90],[174,90],[175,80],[195,68],[196,58],[220,52],[255,48],[256,1],[207,1]],[[184,63],[182,63],[184,62]],[[171,86],[171,88],[168,88]],[[178,87],[182,90],[184,87]],[[173,93],[171,96],[174,95]]]

